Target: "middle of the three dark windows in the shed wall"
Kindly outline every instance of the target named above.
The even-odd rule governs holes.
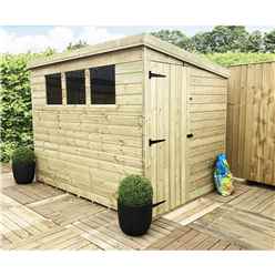
[[[85,104],[84,70],[65,73],[67,103]]]

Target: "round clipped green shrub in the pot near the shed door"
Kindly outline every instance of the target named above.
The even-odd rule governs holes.
[[[140,175],[124,177],[119,187],[119,202],[128,206],[142,206],[152,203],[151,182]]]

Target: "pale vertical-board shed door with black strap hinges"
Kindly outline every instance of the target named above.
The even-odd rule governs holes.
[[[159,214],[185,202],[186,82],[182,65],[151,61],[149,70],[145,174],[154,187],[154,202],[166,200]]]

